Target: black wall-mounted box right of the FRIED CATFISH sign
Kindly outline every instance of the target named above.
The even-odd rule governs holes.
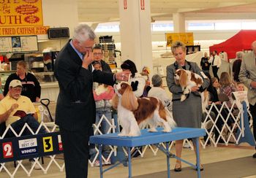
[[[69,38],[69,28],[49,28],[48,29],[49,39],[67,39]]]

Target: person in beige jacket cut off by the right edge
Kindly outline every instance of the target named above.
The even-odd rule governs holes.
[[[252,42],[252,52],[244,55],[239,80],[248,88],[247,98],[252,114],[253,135],[256,139],[256,41]],[[256,153],[252,157],[256,158]]]

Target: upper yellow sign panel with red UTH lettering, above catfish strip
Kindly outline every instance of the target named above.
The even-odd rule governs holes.
[[[42,26],[42,0],[0,0],[0,26]]]

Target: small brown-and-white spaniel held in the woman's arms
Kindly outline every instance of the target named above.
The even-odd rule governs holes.
[[[195,74],[192,71],[178,69],[176,70],[176,74],[174,74],[174,79],[177,85],[181,85],[183,93],[181,95],[181,101],[184,101],[187,98],[187,94],[191,92],[191,88],[200,86],[203,84],[203,78],[199,74]],[[202,100],[202,109],[203,112],[206,111],[206,107],[208,107],[208,91],[204,90],[202,93],[200,92],[201,100]]]

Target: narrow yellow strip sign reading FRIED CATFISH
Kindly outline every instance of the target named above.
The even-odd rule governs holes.
[[[49,26],[12,26],[12,27],[0,26],[0,36],[47,34],[48,28],[50,27]]]

